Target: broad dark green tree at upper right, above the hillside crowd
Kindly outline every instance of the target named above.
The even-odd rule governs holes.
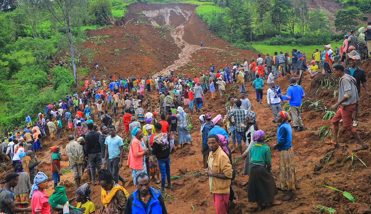
[[[335,28],[337,31],[349,32],[355,30],[359,23],[356,20],[367,20],[367,17],[358,7],[348,7],[340,9],[335,13]]]

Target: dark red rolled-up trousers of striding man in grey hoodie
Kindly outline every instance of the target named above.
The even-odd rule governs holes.
[[[355,103],[351,105],[344,105],[340,106],[338,111],[336,112],[335,116],[331,119],[332,125],[334,129],[339,129],[339,121],[343,119],[343,126],[344,129],[349,131],[350,133],[355,133],[355,129],[353,128],[353,112],[355,110]]]

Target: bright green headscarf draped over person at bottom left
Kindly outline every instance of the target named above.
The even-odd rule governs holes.
[[[69,209],[79,211],[78,208],[69,205],[66,195],[66,188],[63,186],[56,186],[55,191],[49,197],[49,204],[56,209],[63,209],[63,214],[69,213]]]

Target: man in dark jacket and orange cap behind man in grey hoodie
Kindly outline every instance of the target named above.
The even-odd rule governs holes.
[[[365,89],[365,95],[366,97],[370,96],[370,93],[368,92],[368,86],[367,86],[367,79],[365,75],[365,71],[357,66],[357,57],[351,56],[349,57],[349,67],[344,70],[344,72],[348,75],[351,75],[354,77],[356,83],[355,86],[357,88],[358,98],[361,96],[361,83],[363,88]],[[355,110],[353,112],[353,126],[358,126],[358,100],[355,103]]]

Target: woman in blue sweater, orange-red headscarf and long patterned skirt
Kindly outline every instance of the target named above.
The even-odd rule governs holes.
[[[292,129],[289,122],[291,121],[289,113],[281,111],[277,115],[277,122],[280,123],[277,130],[278,143],[272,146],[279,152],[279,184],[281,190],[288,190],[288,194],[283,197],[283,201],[290,200],[294,194],[293,190],[298,187],[295,172],[294,150],[292,148]]]

